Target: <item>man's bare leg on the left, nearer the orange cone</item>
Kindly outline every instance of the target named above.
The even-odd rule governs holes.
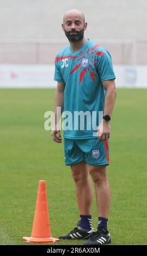
[[[77,203],[80,215],[91,215],[93,187],[89,177],[88,164],[84,161],[71,166],[76,184]]]

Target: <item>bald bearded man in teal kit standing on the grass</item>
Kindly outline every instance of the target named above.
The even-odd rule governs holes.
[[[76,184],[79,209],[77,228],[60,239],[88,239],[84,245],[103,245],[111,242],[107,229],[111,191],[107,179],[106,166],[109,164],[108,138],[116,89],[111,56],[103,47],[84,37],[87,29],[84,15],[78,10],[69,10],[63,17],[63,31],[70,45],[57,53],[54,80],[57,81],[55,95],[55,117],[57,107],[68,111],[73,119],[64,129],[65,164],[71,167]],[[86,113],[87,123],[77,126],[77,112]],[[99,111],[103,113],[101,124]],[[90,125],[91,115],[96,112],[97,133]],[[89,119],[88,119],[89,118]],[[80,124],[81,125],[81,124]],[[62,142],[57,121],[52,130],[53,141]],[[94,181],[97,211],[99,212],[96,232],[91,224],[91,203],[93,188],[89,173]],[[67,216],[68,217],[68,216]]]

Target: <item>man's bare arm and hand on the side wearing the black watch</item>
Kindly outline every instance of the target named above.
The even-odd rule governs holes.
[[[103,87],[106,90],[105,97],[105,107],[103,111],[103,115],[112,116],[115,98],[117,95],[117,90],[115,88],[115,80],[107,80],[102,82]],[[98,137],[100,141],[105,141],[110,137],[111,132],[111,121],[102,120],[101,125],[98,129]]]

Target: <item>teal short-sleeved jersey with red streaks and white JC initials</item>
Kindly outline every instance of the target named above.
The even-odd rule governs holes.
[[[89,128],[87,117],[91,113],[92,118],[92,112],[95,111],[96,125],[99,124],[99,111],[104,109],[106,94],[102,82],[113,79],[115,79],[115,75],[111,55],[105,48],[90,39],[77,52],[72,51],[71,46],[68,45],[57,53],[54,80],[65,82],[64,112],[71,113],[69,116],[67,112],[64,117],[65,138],[94,138],[93,133],[96,130],[93,128],[91,119]],[[81,113],[81,111],[89,112],[84,117],[84,127],[83,124],[80,126],[81,115],[77,116],[77,113]]]

